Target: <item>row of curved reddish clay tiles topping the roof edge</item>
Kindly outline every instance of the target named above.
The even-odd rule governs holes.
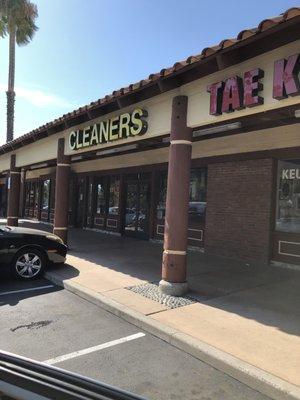
[[[224,39],[222,40],[218,45],[211,46],[211,47],[206,47],[202,50],[202,52],[198,55],[195,56],[189,56],[186,60],[176,62],[172,67],[170,68],[163,68],[157,73],[150,74],[148,78],[143,79],[139,82],[132,83],[126,88],[121,88],[119,90],[113,91],[110,95],[106,95],[103,98],[100,98],[96,101],[91,102],[90,104],[80,107],[77,110],[71,111],[67,114],[62,115],[61,117],[46,123],[45,125],[40,126],[37,129],[32,130],[31,132],[26,133],[25,135],[22,135],[13,141],[9,143],[5,143],[4,145],[0,146],[0,151],[2,153],[6,153],[8,151],[11,151],[14,148],[14,145],[17,144],[22,144],[24,141],[26,141],[29,138],[34,138],[35,140],[38,140],[42,137],[39,137],[39,133],[42,133],[43,131],[54,127],[56,125],[61,125],[65,124],[65,122],[71,118],[74,118],[76,116],[80,116],[90,110],[93,110],[93,108],[96,108],[99,105],[105,105],[113,100],[117,100],[118,98],[136,92],[140,90],[141,88],[146,87],[147,85],[159,81],[162,78],[169,77],[172,74],[174,74],[177,71],[183,70],[185,67],[190,66],[194,63],[197,63],[206,57],[209,57],[213,54],[216,54],[217,52],[220,52],[223,49],[229,48],[236,43],[242,42],[252,36],[258,35],[259,33],[262,33],[268,29],[271,29],[279,24],[282,24],[292,18],[296,18],[300,16],[300,7],[293,7],[282,13],[281,15],[273,18],[267,18],[264,19],[263,21],[260,22],[260,24],[256,28],[250,28],[250,29],[244,29],[242,30],[236,38],[233,39]]]

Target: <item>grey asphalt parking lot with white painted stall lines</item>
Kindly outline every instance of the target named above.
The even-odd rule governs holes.
[[[0,276],[0,348],[149,399],[268,399],[45,279]]]

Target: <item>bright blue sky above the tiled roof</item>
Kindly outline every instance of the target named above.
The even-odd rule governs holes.
[[[34,1],[34,0],[33,0]],[[294,0],[35,0],[34,40],[16,51],[15,137],[147,77]],[[0,39],[0,143],[6,136],[8,43]]]

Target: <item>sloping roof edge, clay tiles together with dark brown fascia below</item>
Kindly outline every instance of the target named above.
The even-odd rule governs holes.
[[[290,8],[276,18],[261,21],[256,28],[241,31],[234,40],[225,39],[217,46],[207,47],[197,56],[190,56],[184,61],[176,62],[171,68],[164,68],[159,73],[149,75],[147,79],[116,90],[111,95],[65,114],[4,144],[0,147],[0,153],[8,153],[24,146],[24,143],[29,144],[49,137],[100,115],[118,111],[274,50],[289,43],[291,37],[294,40],[300,38],[299,22],[300,8]]]

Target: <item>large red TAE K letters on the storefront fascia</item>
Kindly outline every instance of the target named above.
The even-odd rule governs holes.
[[[274,63],[273,98],[284,99],[300,94],[300,54],[293,54],[287,59],[282,58]],[[231,76],[224,81],[213,83],[207,87],[210,93],[211,115],[221,115],[246,107],[263,104],[259,95],[263,89],[260,81],[264,71],[260,68],[245,72],[243,77]]]

